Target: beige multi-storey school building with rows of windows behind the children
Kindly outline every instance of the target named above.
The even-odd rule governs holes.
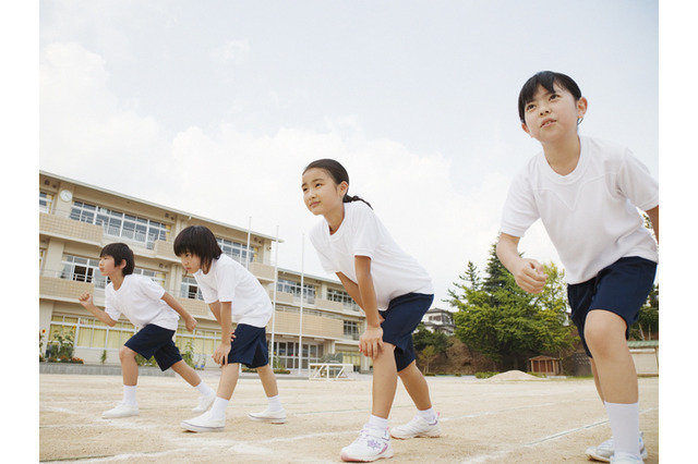
[[[105,364],[119,364],[119,347],[136,329],[123,317],[108,327],[83,308],[77,297],[91,292],[104,309],[107,282],[99,273],[99,251],[123,242],[134,252],[134,273],[161,284],[196,318],[193,333],[180,318],[176,334],[180,351],[191,346],[195,364],[216,369],[210,355],[220,341],[220,328],[196,281],[185,274],[172,249],[177,234],[193,224],[209,228],[222,252],[245,266],[267,290],[275,306],[266,327],[275,367],[306,373],[309,363],[332,357],[352,364],[358,371],[370,369],[370,359],[359,353],[363,312],[338,281],[278,269],[273,256],[277,237],[39,171],[39,333],[44,349],[51,341],[72,337],[74,357],[99,364],[106,356]]]

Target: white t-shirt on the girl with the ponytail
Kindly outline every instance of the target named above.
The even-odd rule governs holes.
[[[334,233],[323,218],[310,231],[323,269],[341,272],[357,282],[356,256],[371,258],[371,277],[380,309],[408,293],[432,294],[432,280],[424,268],[393,240],[373,209],[363,202],[345,203],[345,219]]]

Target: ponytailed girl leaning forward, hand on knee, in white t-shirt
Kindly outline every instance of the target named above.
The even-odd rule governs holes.
[[[416,364],[412,332],[429,310],[434,290],[429,273],[393,241],[371,206],[347,195],[349,175],[332,159],[303,171],[303,199],[324,219],[309,234],[323,268],[334,272],[366,315],[359,341],[373,358],[373,407],[359,438],[341,450],[345,461],[370,462],[393,456],[390,436],[438,437],[438,414]],[[400,377],[417,406],[414,418],[390,429],[388,415]]]

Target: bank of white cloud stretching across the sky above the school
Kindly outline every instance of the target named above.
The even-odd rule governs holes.
[[[237,60],[248,50],[229,42],[218,58]],[[279,265],[300,270],[303,233],[320,220],[303,206],[301,172],[314,159],[335,158],[349,171],[350,192],[374,206],[431,273],[435,305],[446,306],[441,300],[468,261],[484,267],[509,183],[498,168],[512,148],[496,126],[480,135],[482,148],[465,163],[473,169],[462,173],[440,152],[366,136],[354,114],[326,118],[314,130],[255,134],[222,121],[170,134],[133,96],[117,97],[98,53],[55,42],[40,58],[40,169],[238,227],[252,218],[252,229],[267,235],[278,225]],[[541,260],[552,256],[535,228],[521,249]],[[324,276],[308,241],[304,270]]]

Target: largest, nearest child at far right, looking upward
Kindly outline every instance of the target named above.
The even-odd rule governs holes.
[[[577,84],[561,73],[538,73],[521,88],[521,126],[543,151],[512,182],[497,256],[521,289],[540,293],[543,266],[522,258],[518,243],[541,219],[565,267],[573,321],[613,434],[587,455],[642,462],[637,374],[626,339],[658,261],[657,243],[638,208],[659,241],[659,186],[627,148],[578,135],[587,107]]]

